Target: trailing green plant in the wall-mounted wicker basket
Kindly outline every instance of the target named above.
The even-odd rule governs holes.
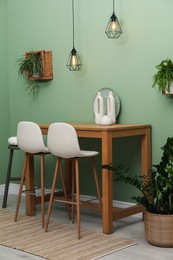
[[[34,93],[38,87],[37,80],[42,76],[42,58],[40,52],[30,52],[17,60],[18,75],[26,79],[26,93]]]

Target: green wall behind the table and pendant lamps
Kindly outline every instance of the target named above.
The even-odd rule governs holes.
[[[70,72],[66,67],[72,49],[70,0],[1,2],[3,8],[6,3],[7,17],[3,13],[1,19],[7,25],[2,28],[5,47],[0,52],[4,59],[8,53],[8,64],[5,61],[3,68],[0,64],[5,96],[5,116],[2,117],[7,128],[1,133],[3,149],[6,149],[7,133],[15,135],[20,120],[94,122],[93,97],[99,89],[110,87],[121,98],[118,123],[152,125],[152,158],[153,163],[159,162],[160,147],[173,133],[170,120],[173,100],[162,96],[151,85],[155,66],[162,59],[172,58],[173,1],[116,0],[115,13],[123,34],[111,40],[104,31],[112,14],[112,0],[75,0],[75,47],[83,63],[79,72]],[[26,85],[24,80],[18,79],[16,61],[25,51],[42,49],[53,52],[54,79],[40,84],[37,96],[26,98]],[[82,141],[82,144],[100,149],[97,141]],[[115,161],[125,163],[132,172],[140,172],[139,144],[138,138],[117,140]],[[98,167],[99,164],[100,160]],[[120,184],[116,187],[117,198],[128,200]]]

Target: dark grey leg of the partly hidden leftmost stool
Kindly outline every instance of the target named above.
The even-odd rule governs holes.
[[[4,197],[3,197],[3,203],[2,208],[6,208],[7,206],[7,197],[8,197],[8,189],[9,189],[9,183],[10,183],[10,177],[11,177],[11,167],[12,167],[12,161],[13,161],[13,150],[10,149],[10,155],[9,155],[9,161],[8,161],[8,169],[7,169],[7,176],[6,176],[6,182],[5,182],[5,190],[4,190]]]

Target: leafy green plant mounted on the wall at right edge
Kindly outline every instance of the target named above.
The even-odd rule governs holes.
[[[171,59],[161,61],[156,66],[157,72],[153,76],[152,87],[158,87],[163,94],[173,94],[173,62]]]

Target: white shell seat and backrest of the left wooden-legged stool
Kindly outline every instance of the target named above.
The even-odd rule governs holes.
[[[17,126],[17,143],[19,148],[27,153],[46,153],[40,127],[29,121],[21,121]]]

